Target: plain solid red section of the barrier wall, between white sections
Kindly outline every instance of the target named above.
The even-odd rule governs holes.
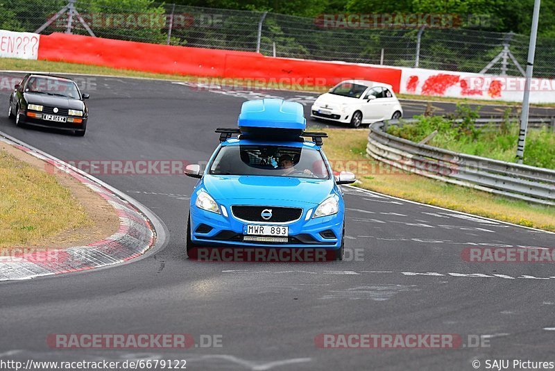
[[[249,51],[173,47],[90,36],[41,35],[39,60],[99,65],[144,72],[244,79],[277,79],[288,83],[334,85],[345,79],[388,83],[399,92],[401,69],[272,58]]]

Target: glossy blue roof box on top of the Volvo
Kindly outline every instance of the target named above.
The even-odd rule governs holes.
[[[249,135],[301,135],[307,127],[302,104],[283,99],[246,101],[239,115],[241,133]]]

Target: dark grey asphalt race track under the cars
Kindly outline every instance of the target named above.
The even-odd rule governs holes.
[[[63,160],[197,162],[216,147],[217,126],[236,124],[244,100],[117,78],[96,78],[90,93],[84,138],[20,129],[5,115],[0,131]],[[6,113],[8,94],[0,92]],[[345,188],[345,244],[359,258],[200,263],[185,258],[194,179],[99,178],[150,208],[165,224],[166,245],[119,267],[0,283],[0,358],[184,358],[189,370],[473,370],[475,359],[482,368],[493,358],[555,361],[552,265],[461,259],[472,246],[555,247],[555,234]],[[74,351],[49,348],[49,333],[210,334],[221,335],[223,347]],[[482,336],[490,347],[320,349],[320,333],[456,333]]]

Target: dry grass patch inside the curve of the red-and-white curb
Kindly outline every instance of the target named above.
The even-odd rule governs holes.
[[[0,149],[0,248],[33,245],[87,224],[87,212],[55,176]]]

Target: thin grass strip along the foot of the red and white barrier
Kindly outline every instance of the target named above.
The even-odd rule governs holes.
[[[107,76],[128,76],[142,77],[146,79],[162,79],[171,81],[197,81],[198,76],[183,76],[178,74],[155,74],[152,72],[133,71],[131,69],[115,69],[110,67],[80,65],[78,63],[51,62],[49,60],[24,60],[15,58],[0,58],[0,70],[17,70],[17,71],[46,71],[46,72],[64,72],[74,74],[98,74]],[[245,83],[245,79],[234,79],[239,85]],[[248,86],[246,86],[246,89]],[[251,86],[251,88],[255,88]],[[322,86],[305,86],[305,85],[288,85],[288,84],[268,84],[266,88],[275,88],[281,90],[301,90],[306,92],[327,92],[330,87]],[[520,106],[522,102],[511,101],[488,101],[483,99],[467,99],[467,98],[450,98],[450,97],[430,97],[412,94],[397,94],[400,99],[416,99],[423,101],[444,101],[449,103],[465,103],[465,104],[495,104],[496,106]],[[537,107],[554,107],[555,104],[531,104]]]

